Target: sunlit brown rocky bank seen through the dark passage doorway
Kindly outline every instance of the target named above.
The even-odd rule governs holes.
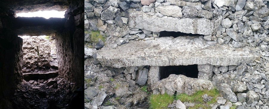
[[[23,40],[22,73],[51,72],[58,70],[55,36],[19,37]]]

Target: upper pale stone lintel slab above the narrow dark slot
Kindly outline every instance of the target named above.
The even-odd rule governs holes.
[[[146,29],[153,32],[175,31],[192,34],[215,35],[220,25],[219,19],[181,18],[151,16],[144,12],[131,12],[129,27]]]

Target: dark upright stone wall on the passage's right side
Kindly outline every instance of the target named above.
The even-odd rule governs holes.
[[[65,14],[65,27],[56,32],[56,54],[59,76],[76,82],[82,87],[83,80],[83,1],[72,1]]]

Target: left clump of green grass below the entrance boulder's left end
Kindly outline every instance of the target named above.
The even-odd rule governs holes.
[[[150,109],[166,109],[174,101],[173,96],[168,94],[151,95],[149,98]]]

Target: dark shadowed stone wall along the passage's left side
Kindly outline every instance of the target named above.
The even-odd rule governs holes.
[[[22,38],[11,29],[12,10],[0,10],[0,107],[12,108],[9,101],[22,82]]]

